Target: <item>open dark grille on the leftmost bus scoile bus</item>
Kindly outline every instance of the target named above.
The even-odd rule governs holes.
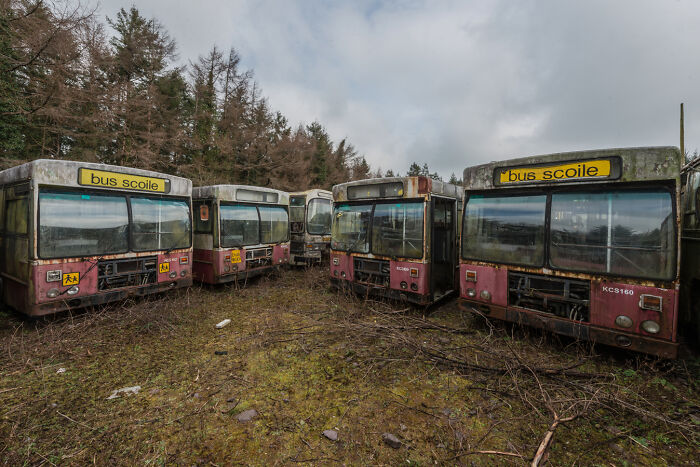
[[[109,290],[153,284],[158,278],[158,258],[113,259],[97,263],[97,289]]]

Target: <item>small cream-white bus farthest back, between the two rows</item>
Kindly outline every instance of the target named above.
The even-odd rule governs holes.
[[[307,190],[289,194],[291,264],[309,265],[328,258],[333,193]]]

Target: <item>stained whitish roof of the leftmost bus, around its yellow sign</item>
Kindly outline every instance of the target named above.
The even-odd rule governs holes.
[[[85,188],[78,183],[78,170],[80,168],[103,170],[106,172],[116,172],[128,175],[139,175],[141,177],[153,177],[170,180],[170,191],[168,196],[190,196],[192,194],[192,181],[177,177],[175,175],[153,172],[150,170],[134,169],[119,165],[96,164],[93,162],[66,161],[54,159],[37,159],[26,164],[18,165],[0,172],[0,185],[30,180],[32,186],[52,185]],[[112,190],[90,186],[91,190]],[[129,190],[138,193],[148,193],[147,191]]]

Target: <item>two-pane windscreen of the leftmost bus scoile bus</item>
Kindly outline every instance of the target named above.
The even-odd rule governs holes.
[[[91,256],[119,255],[129,252],[167,251],[174,249],[186,249],[192,246],[192,216],[189,199],[177,196],[154,196],[152,194],[133,194],[121,191],[99,190],[72,190],[69,187],[39,187],[37,193],[38,210],[36,214],[37,229],[37,256],[39,259],[64,259],[81,258]],[[136,222],[133,215],[133,200],[162,201],[165,203],[183,204],[187,207],[185,230],[187,232],[187,244],[162,245],[160,248],[139,249],[135,246],[134,234]],[[88,201],[89,203],[85,204]],[[97,204],[96,201],[102,201]],[[95,203],[95,204],[93,204]],[[90,206],[92,204],[92,206]],[[76,216],[76,210],[82,210],[83,216]],[[76,223],[81,217],[87,220],[87,216],[93,216],[89,225],[90,230],[96,231],[102,227],[102,234],[89,234],[87,231],[78,232],[76,236],[67,236],[65,229],[76,228]],[[48,225],[43,225],[44,222]],[[107,226],[107,228],[104,228]],[[159,223],[159,233],[161,224]],[[63,232],[52,230],[63,229]],[[83,230],[83,229],[80,229]],[[115,234],[112,238],[105,234]],[[160,242],[160,235],[158,241]],[[183,237],[184,238],[184,237]],[[62,246],[61,243],[64,243]],[[74,245],[71,247],[70,243]],[[86,249],[85,245],[94,244],[93,249]],[[54,245],[50,250],[47,244]],[[100,245],[105,247],[99,248]],[[113,246],[107,248],[106,246]],[[62,250],[60,248],[63,248]],[[72,248],[72,249],[71,249]],[[51,251],[51,252],[49,252]]]

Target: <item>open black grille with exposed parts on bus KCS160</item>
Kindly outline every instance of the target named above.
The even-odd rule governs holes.
[[[590,283],[551,276],[508,273],[508,304],[574,321],[590,321]]]

